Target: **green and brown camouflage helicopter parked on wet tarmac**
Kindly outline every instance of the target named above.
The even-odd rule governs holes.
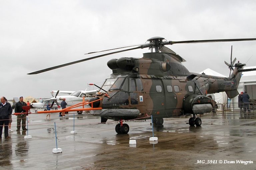
[[[151,115],[154,124],[162,125],[164,122],[163,118],[179,117],[189,114],[193,115],[193,117],[189,118],[189,125],[201,126],[201,118],[196,116],[212,112],[216,107],[216,102],[211,96],[207,96],[207,94],[225,91],[229,98],[234,98],[239,94],[237,87],[242,71],[252,71],[255,69],[243,69],[246,64],[240,62],[235,63],[236,58],[232,61],[231,50],[230,64],[225,61],[230,69],[228,78],[192,73],[182,64],[185,59],[165,45],[253,40],[256,39],[174,42],[166,41],[162,37],[152,37],[146,43],[132,45],[137,47],[120,47],[132,48],[97,55],[28,74],[38,74],[114,53],[149,47],[151,52],[144,53],[142,58],[121,57],[119,59],[111,59],[107,62],[108,67],[113,73],[110,78],[105,80],[101,87],[96,85],[100,90],[94,98],[89,100],[89,102],[95,101],[90,105],[91,107],[102,109],[91,110],[91,114],[101,117],[101,123],[106,123],[108,119],[119,121],[115,127],[117,133],[129,132],[129,126],[124,124],[123,121],[151,119]],[[155,51],[153,52],[153,50]],[[233,70],[232,74],[231,70]]]

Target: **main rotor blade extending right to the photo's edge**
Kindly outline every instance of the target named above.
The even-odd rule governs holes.
[[[220,39],[220,40],[189,40],[189,41],[172,41],[169,44],[177,44],[177,43],[203,43],[203,42],[232,42],[232,41],[254,41],[253,39]]]

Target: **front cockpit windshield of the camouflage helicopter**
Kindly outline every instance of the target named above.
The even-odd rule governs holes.
[[[111,78],[107,79],[102,86],[102,89],[109,90],[123,90],[128,91],[128,82],[126,78]],[[102,90],[101,90],[102,91]]]

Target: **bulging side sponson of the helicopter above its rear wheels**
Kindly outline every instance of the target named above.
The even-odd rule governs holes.
[[[216,102],[203,95],[190,95],[183,100],[183,111],[190,114],[202,114],[212,111]]]

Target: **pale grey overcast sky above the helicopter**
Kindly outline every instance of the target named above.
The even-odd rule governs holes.
[[[255,0],[0,0],[0,96],[51,97],[51,90],[93,90],[112,71],[111,58],[142,57],[137,49],[66,66],[27,73],[91,57],[84,53],[144,43],[256,38]],[[190,72],[206,68],[229,75],[224,60],[256,66],[256,41],[174,44]],[[95,89],[95,88],[94,88]]]

